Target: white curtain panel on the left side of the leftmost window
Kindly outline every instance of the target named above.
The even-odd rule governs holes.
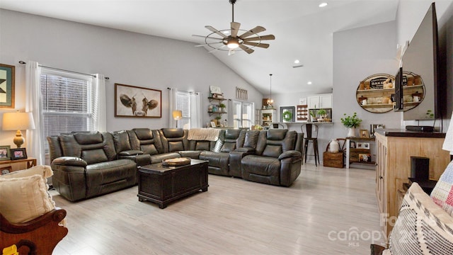
[[[26,143],[28,154],[36,158],[37,164],[45,164],[44,133],[42,132],[42,98],[40,92],[41,68],[38,62],[25,64],[25,112],[33,114],[35,130],[27,130]]]

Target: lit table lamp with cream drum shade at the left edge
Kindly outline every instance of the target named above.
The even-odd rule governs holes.
[[[18,148],[23,145],[25,141],[22,136],[21,130],[35,129],[35,122],[31,113],[4,113],[3,114],[3,130],[17,130],[16,137],[14,137],[14,144]]]

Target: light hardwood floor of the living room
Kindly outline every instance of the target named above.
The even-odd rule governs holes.
[[[369,254],[384,242],[374,174],[304,164],[289,188],[210,175],[163,210],[137,186],[77,203],[52,191],[69,229],[54,254]]]

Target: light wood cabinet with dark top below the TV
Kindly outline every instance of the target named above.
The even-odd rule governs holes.
[[[388,236],[399,212],[398,191],[411,176],[411,156],[430,159],[430,179],[438,180],[449,164],[449,152],[442,150],[444,137],[414,133],[391,136],[391,132],[375,132],[377,141],[376,196],[381,213],[381,225]],[[409,133],[411,134],[411,133]],[[437,133],[438,134],[438,133]],[[442,135],[442,134],[440,134]],[[444,134],[445,135],[445,134]],[[400,199],[401,200],[401,199]]]

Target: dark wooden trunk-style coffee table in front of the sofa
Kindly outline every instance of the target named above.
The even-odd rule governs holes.
[[[139,201],[149,200],[164,209],[174,200],[207,191],[207,161],[191,159],[185,166],[162,163],[139,167]]]

